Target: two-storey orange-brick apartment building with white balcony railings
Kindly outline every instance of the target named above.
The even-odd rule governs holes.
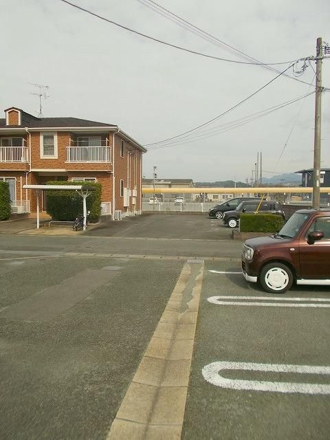
[[[24,184],[98,181],[102,213],[141,213],[146,149],[117,125],[78,118],[36,118],[17,107],[0,119],[0,180],[8,181],[12,212],[34,212]],[[45,199],[41,201],[45,210]]]

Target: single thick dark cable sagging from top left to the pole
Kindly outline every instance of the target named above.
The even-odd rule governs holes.
[[[119,28],[122,28],[124,30],[128,30],[129,32],[133,32],[134,34],[143,36],[146,39],[149,39],[149,40],[152,40],[152,41],[156,41],[157,43],[161,43],[161,44],[164,44],[166,46],[174,47],[175,49],[182,50],[184,52],[189,52],[190,54],[195,54],[195,55],[199,55],[199,56],[204,56],[206,58],[212,58],[213,60],[225,61],[227,63],[235,63],[235,64],[281,65],[281,64],[293,63],[293,61],[283,61],[281,63],[252,63],[252,62],[248,62],[248,61],[236,61],[236,60],[230,60],[228,58],[220,58],[219,56],[212,56],[212,55],[203,54],[202,52],[197,52],[195,50],[186,49],[185,47],[177,46],[177,45],[174,45],[174,44],[171,44],[171,43],[167,43],[166,41],[162,41],[162,40],[156,39],[153,36],[142,34],[142,32],[138,32],[138,31],[133,30],[131,28],[127,28],[127,26],[121,25],[120,23],[116,23],[113,20],[106,19],[105,17],[102,17],[101,15],[96,14],[95,12],[91,12],[88,9],[82,8],[79,5],[71,3],[70,1],[67,1],[67,0],[60,0],[60,1],[62,1],[63,3],[67,3],[68,5],[72,6],[73,8],[76,8],[76,9],[81,10],[83,12],[87,12],[87,14],[93,15],[94,17],[96,17],[96,18],[98,18],[100,20],[107,21],[107,23],[111,23],[111,24],[113,24],[115,26],[118,26]],[[303,58],[303,59],[305,59],[305,58]],[[298,61],[298,60],[296,60],[296,61]]]

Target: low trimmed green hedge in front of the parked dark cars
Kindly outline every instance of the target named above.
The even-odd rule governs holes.
[[[278,232],[284,221],[275,214],[241,214],[239,223],[241,232]]]

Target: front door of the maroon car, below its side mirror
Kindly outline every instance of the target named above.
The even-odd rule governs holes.
[[[322,231],[325,236],[309,245],[307,235],[312,231]],[[319,217],[311,223],[300,239],[299,255],[302,278],[330,278],[330,217]]]

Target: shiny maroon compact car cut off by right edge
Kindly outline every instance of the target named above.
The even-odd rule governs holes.
[[[297,285],[330,285],[330,210],[296,211],[278,234],[246,240],[242,272],[267,292]]]

